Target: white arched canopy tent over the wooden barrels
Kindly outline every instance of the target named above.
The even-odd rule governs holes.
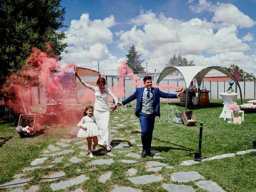
[[[158,77],[157,84],[159,84],[168,74],[178,70],[180,74],[182,74],[186,90],[188,90],[190,82],[195,78],[198,84],[198,88],[200,88],[200,85],[204,79],[204,76],[210,71],[210,70],[218,70],[228,77],[230,77],[238,86],[239,92],[240,92],[240,98],[242,103],[242,92],[239,85],[238,80],[235,78],[235,76],[226,68],[220,67],[220,66],[177,66],[177,67],[167,67],[165,68],[160,76]],[[187,97],[188,97],[188,91],[186,91],[186,109],[187,109]]]

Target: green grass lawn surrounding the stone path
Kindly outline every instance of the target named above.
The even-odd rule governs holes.
[[[240,100],[237,100],[238,104]],[[244,100],[243,102],[246,102]],[[223,118],[218,118],[222,112],[223,104],[222,100],[211,100],[210,106],[188,106],[188,110],[193,110],[196,116],[196,126],[184,126],[183,124],[176,124],[172,121],[176,112],[184,111],[184,106],[180,106],[178,102],[169,102],[161,104],[161,118],[156,118],[155,128],[152,140],[152,150],[160,151],[160,156],[165,159],[158,160],[159,162],[173,166],[172,169],[162,169],[157,174],[161,174],[164,180],[162,182],[153,182],[146,185],[135,185],[127,178],[126,171],[129,168],[136,168],[138,170],[136,176],[149,174],[146,172],[146,161],[152,160],[150,157],[141,158],[136,164],[124,164],[122,159],[128,159],[126,153],[118,153],[121,149],[114,149],[112,153],[115,157],[103,156],[100,153],[101,150],[97,150],[96,157],[94,159],[113,158],[115,161],[111,165],[92,166],[87,163],[90,159],[85,158],[85,161],[78,164],[72,164],[68,160],[72,156],[78,156],[78,148],[72,148],[74,153],[67,154],[64,160],[56,164],[53,168],[34,170],[27,174],[27,177],[33,176],[33,180],[29,182],[30,185],[37,184],[40,186],[40,191],[52,191],[49,187],[49,182],[42,182],[40,178],[42,176],[63,170],[66,176],[62,178],[67,180],[84,173],[90,178],[90,182],[80,184],[82,189],[88,191],[111,191],[115,185],[130,186],[132,188],[138,188],[145,192],[165,191],[162,189],[162,183],[178,184],[170,180],[170,175],[174,172],[196,171],[206,178],[206,180],[212,180],[221,186],[228,192],[254,192],[255,191],[255,172],[256,172],[256,152],[250,152],[248,154],[237,155],[232,158],[222,158],[218,160],[212,160],[202,162],[199,164],[193,164],[190,166],[180,166],[179,164],[184,160],[193,160],[194,157],[189,156],[198,150],[199,141],[199,125],[203,122],[203,135],[202,135],[202,157],[210,158],[216,155],[236,153],[238,151],[252,149],[250,142],[256,139],[255,130],[255,114],[244,114],[244,122],[242,124],[228,124]],[[134,115],[134,104],[130,108],[122,107],[118,110],[111,112],[111,126],[116,127],[116,124],[124,123],[122,120],[137,120]],[[114,119],[114,116],[120,118]],[[112,122],[115,120],[116,122]],[[76,125],[69,126],[46,126],[43,125],[44,132],[41,132],[38,136],[33,138],[20,138],[15,131],[15,126],[11,124],[0,125],[0,184],[9,182],[15,174],[22,173],[22,169],[30,166],[36,158],[40,158],[40,155],[44,150],[47,150],[49,145],[54,145],[59,142],[61,138],[66,138],[66,135],[70,133]],[[125,130],[132,130],[131,133]],[[140,135],[137,135],[139,125],[133,125],[131,123],[125,124],[124,127],[117,129],[118,133],[114,137],[123,137],[125,140],[130,141],[130,138],[136,139],[136,144],[130,152],[140,154],[141,147],[137,147],[137,144],[141,144]],[[246,142],[245,141],[250,141]],[[126,142],[126,141],[124,141]],[[99,147],[102,149],[101,147]],[[51,157],[44,163],[44,166],[50,165],[55,157]],[[68,166],[65,166],[69,164]],[[81,172],[78,174],[77,169]],[[100,174],[112,171],[112,176],[105,184],[98,182]],[[59,180],[62,180],[59,179]],[[195,182],[188,182],[186,185],[193,186],[197,192],[204,192],[204,190],[198,188]],[[79,186],[79,185],[78,185]],[[76,186],[77,187],[77,186]],[[25,188],[29,188],[25,186]],[[77,187],[78,188],[78,187]],[[69,190],[75,190],[76,188],[70,187]],[[5,191],[5,189],[0,189]],[[66,191],[66,190],[60,190]]]

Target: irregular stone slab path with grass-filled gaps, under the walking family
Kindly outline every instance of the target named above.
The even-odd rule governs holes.
[[[152,182],[162,182],[164,180],[162,172],[168,171],[170,172],[170,177],[162,183],[162,190],[169,192],[194,192],[195,186],[198,186],[198,188],[209,192],[224,192],[218,184],[205,180],[204,176],[197,172],[173,172],[173,166],[162,163],[165,157],[161,156],[160,151],[152,150],[153,158],[141,158],[142,145],[138,120],[135,117],[129,118],[127,116],[122,116],[121,118],[114,116],[112,119],[114,120],[111,123],[114,126],[112,126],[111,132],[115,134],[115,137],[111,152],[106,152],[101,146],[97,146],[96,152],[94,152],[95,157],[89,158],[86,140],[80,138],[61,139],[55,144],[50,144],[42,151],[41,157],[33,160],[28,167],[23,168],[22,173],[16,174],[11,182],[2,184],[0,189],[8,188],[12,192],[36,192],[40,191],[40,182],[43,182],[44,185],[53,191],[84,192],[88,191],[88,189],[84,188],[83,184],[91,179],[95,179],[95,176],[91,178],[91,171],[97,173],[96,180],[98,182],[106,184],[114,177],[114,170],[112,169],[115,168],[116,164],[119,164],[124,169],[123,173],[128,181],[126,185],[129,182],[132,186],[134,184],[141,186]],[[240,151],[236,154],[218,155],[205,158],[202,162],[186,160],[180,163],[180,165],[203,163],[204,161],[234,157],[255,151],[256,149]],[[76,167],[74,169],[76,170],[76,175],[70,175],[67,172],[69,167],[71,169]],[[146,172],[141,173],[140,169]],[[32,178],[29,177],[31,174],[28,173],[33,171],[42,173],[40,174],[41,180],[36,185],[30,185]],[[69,189],[71,186],[72,190]],[[120,185],[112,186],[110,191],[142,192],[140,189]]]

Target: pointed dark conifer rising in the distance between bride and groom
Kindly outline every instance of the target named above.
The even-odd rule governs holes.
[[[128,50],[128,54],[126,55],[126,63],[133,70],[134,74],[145,73],[145,68],[141,66],[144,60],[140,60],[140,56],[141,54],[138,54],[135,45],[132,44],[132,46],[130,46],[130,50]]]

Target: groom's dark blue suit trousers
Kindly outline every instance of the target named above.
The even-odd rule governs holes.
[[[155,124],[155,114],[139,113],[140,127],[141,127],[141,141],[142,147],[145,150],[150,150],[152,142],[152,134]]]

